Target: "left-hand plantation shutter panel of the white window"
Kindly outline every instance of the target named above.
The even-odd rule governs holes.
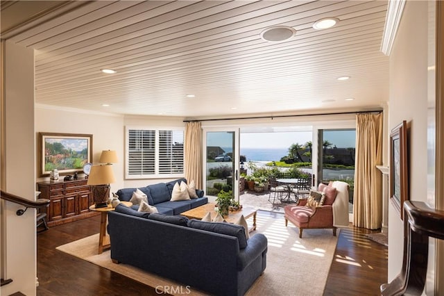
[[[128,175],[155,174],[155,131],[128,130]]]

